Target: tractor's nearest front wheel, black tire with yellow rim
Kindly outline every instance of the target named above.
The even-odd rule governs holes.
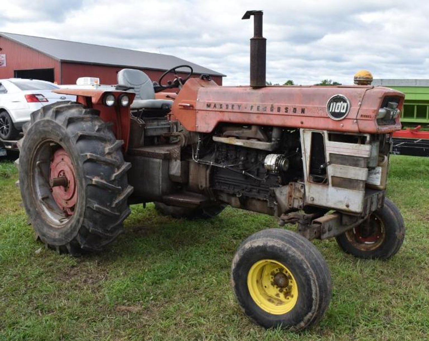
[[[317,323],[331,299],[323,256],[295,232],[272,228],[248,237],[231,269],[237,300],[260,325],[298,331]]]

